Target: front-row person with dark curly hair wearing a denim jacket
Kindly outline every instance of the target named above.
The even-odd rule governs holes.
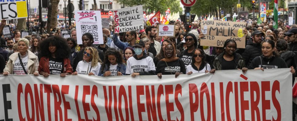
[[[122,76],[126,73],[126,65],[123,64],[122,55],[115,48],[110,48],[105,53],[104,62],[98,76]]]

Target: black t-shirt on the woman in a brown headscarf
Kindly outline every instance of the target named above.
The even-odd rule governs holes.
[[[172,62],[159,61],[157,64],[156,74],[162,73],[163,75],[171,75],[175,74],[175,72],[182,72],[185,74],[185,71],[185,64],[182,62],[182,59],[178,59]]]

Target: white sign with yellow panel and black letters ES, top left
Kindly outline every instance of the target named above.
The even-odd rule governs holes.
[[[27,18],[27,0],[0,0],[0,20]]]

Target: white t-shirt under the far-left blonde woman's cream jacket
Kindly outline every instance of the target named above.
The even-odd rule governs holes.
[[[25,70],[27,70],[28,56],[22,58],[22,62],[25,67]],[[13,67],[13,74],[16,74],[16,75],[26,74],[23,70],[23,67],[19,59],[15,60],[15,66]]]

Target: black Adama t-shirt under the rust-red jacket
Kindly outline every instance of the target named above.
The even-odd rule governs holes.
[[[57,59],[49,57],[49,73],[60,75],[64,71],[64,62],[63,59]]]

